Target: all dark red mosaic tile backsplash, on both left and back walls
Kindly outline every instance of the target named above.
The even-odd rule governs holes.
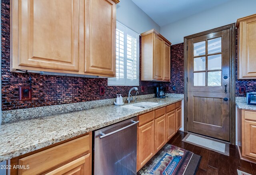
[[[56,104],[86,102],[115,98],[116,94],[127,96],[130,86],[108,86],[108,79],[92,79],[82,77],[61,77],[31,74],[32,100],[19,101],[19,86],[28,86],[28,75],[25,73],[10,72],[10,0],[1,0],[2,24],[2,110],[32,108]],[[141,50],[141,37],[140,37]],[[140,53],[141,57],[141,53]],[[184,44],[171,46],[171,82],[157,83],[140,81],[139,92],[142,94],[154,93],[155,86],[169,86],[168,93],[184,93]],[[141,67],[141,65],[140,65]],[[236,72],[237,72],[237,31],[236,31]],[[141,78],[141,75],[140,75]],[[141,87],[144,86],[144,92]],[[176,90],[172,90],[175,86]],[[255,80],[237,80],[236,96],[239,87],[245,86],[246,92],[256,91]],[[100,96],[99,88],[105,88],[105,94]]]

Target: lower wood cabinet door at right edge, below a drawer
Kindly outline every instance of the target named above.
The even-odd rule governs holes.
[[[244,120],[243,155],[256,158],[256,122]]]

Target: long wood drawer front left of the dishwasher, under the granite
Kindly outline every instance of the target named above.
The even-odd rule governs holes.
[[[91,139],[91,135],[88,134],[81,138],[71,140],[70,142],[19,159],[19,165],[24,165],[25,167],[29,165],[30,167],[30,169],[19,169],[19,175],[39,174],[73,157],[81,155],[90,150]]]

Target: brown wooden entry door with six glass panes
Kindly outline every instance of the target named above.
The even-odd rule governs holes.
[[[188,131],[230,140],[230,29],[188,39]]]

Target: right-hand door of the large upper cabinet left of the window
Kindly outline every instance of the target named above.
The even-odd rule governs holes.
[[[86,0],[85,72],[116,73],[116,4],[112,0]]]

